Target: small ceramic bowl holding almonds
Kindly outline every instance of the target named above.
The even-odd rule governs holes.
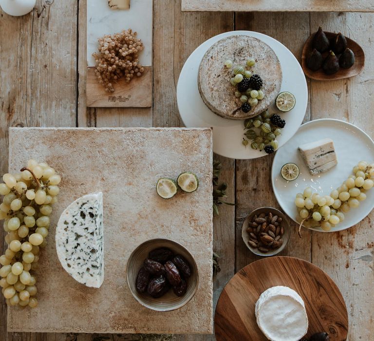
[[[274,249],[270,250],[269,252],[262,252],[258,248],[254,248],[248,244],[248,240],[250,239],[249,233],[247,232],[247,227],[249,226],[249,223],[252,221],[252,217],[257,214],[260,215],[261,213],[269,213],[271,212],[274,215],[278,215],[278,217],[282,218],[282,226],[284,227],[284,234],[282,236],[283,239],[283,244]],[[287,245],[288,240],[290,239],[290,224],[288,222],[288,219],[284,213],[282,213],[280,210],[276,208],[271,208],[271,207],[261,207],[261,208],[256,208],[254,211],[249,213],[249,215],[245,218],[243,222],[243,227],[242,227],[242,237],[243,237],[243,242],[244,244],[256,255],[258,256],[274,256],[278,253],[280,253]]]

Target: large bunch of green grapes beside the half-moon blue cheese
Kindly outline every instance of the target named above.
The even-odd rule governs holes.
[[[46,163],[29,160],[17,174],[4,174],[0,183],[0,219],[4,219],[8,248],[0,256],[0,286],[8,305],[37,306],[36,278],[39,249],[46,245],[52,204],[61,181]]]

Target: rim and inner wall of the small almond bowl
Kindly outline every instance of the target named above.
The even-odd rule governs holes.
[[[275,249],[274,251],[272,252],[268,252],[268,253],[263,253],[261,251],[258,251],[256,249],[254,249],[253,247],[249,246],[248,244],[248,238],[247,238],[247,235],[248,235],[248,232],[246,231],[246,225],[247,225],[247,222],[249,221],[249,219],[254,215],[256,214],[257,212],[263,212],[263,211],[268,211],[268,212],[276,212],[278,216],[280,216],[282,218],[282,222],[285,223],[284,225],[284,235],[287,237],[287,239],[284,241],[284,243],[281,245],[281,247]],[[243,238],[243,242],[244,244],[248,247],[248,249],[254,253],[255,255],[257,256],[262,256],[262,257],[270,257],[270,256],[275,256],[276,254],[280,253],[288,244],[288,241],[290,240],[290,235],[291,235],[291,231],[290,231],[290,223],[287,219],[287,216],[281,212],[279,209],[277,208],[273,208],[273,207],[259,207],[259,208],[256,208],[254,209],[252,212],[250,212],[244,219],[243,221],[243,225],[242,225],[242,238]]]

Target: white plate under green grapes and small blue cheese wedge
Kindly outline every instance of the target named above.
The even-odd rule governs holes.
[[[337,153],[337,166],[325,173],[310,175],[298,147],[303,143],[329,137],[334,141]],[[361,160],[374,162],[374,142],[369,135],[353,124],[336,119],[318,119],[303,124],[298,132],[281,149],[276,152],[271,170],[273,191],[283,211],[295,222],[298,214],[294,204],[297,193],[310,186],[319,194],[329,195],[337,189]],[[294,162],[299,166],[300,175],[294,181],[281,177],[281,167]],[[345,219],[331,232],[344,230],[364,219],[374,208],[374,189],[366,192],[367,199],[360,202],[358,208],[351,208],[345,213]],[[315,228],[323,231],[321,228]]]

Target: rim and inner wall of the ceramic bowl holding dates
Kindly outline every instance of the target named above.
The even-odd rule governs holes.
[[[176,247],[180,247],[183,249],[183,251],[185,251],[191,258],[192,260],[192,264],[191,264],[191,267],[195,269],[196,271],[196,285],[195,285],[195,288],[193,290],[193,292],[190,294],[190,297],[188,297],[188,299],[185,301],[185,302],[177,302],[175,304],[173,304],[172,306],[170,307],[155,307],[155,306],[152,306],[148,303],[144,303],[142,301],[142,299],[138,296],[138,294],[136,292],[134,292],[131,284],[132,284],[132,281],[131,279],[129,278],[129,263],[131,262],[131,259],[134,257],[134,255],[137,254],[137,252],[139,252],[139,250],[144,246],[144,244],[149,244],[149,243],[152,243],[152,242],[167,242],[167,243],[171,243],[171,244],[174,244]],[[162,247],[162,246],[159,246],[159,247]],[[173,310],[177,310],[177,309],[180,309],[182,308],[183,306],[185,306],[188,302],[190,302],[192,300],[192,298],[195,296],[196,292],[197,292],[197,289],[199,287],[199,270],[198,270],[198,267],[197,267],[197,264],[196,264],[196,261],[195,261],[195,258],[192,256],[191,252],[189,252],[187,250],[187,248],[185,246],[183,246],[182,244],[172,240],[172,239],[167,239],[167,238],[154,238],[154,239],[149,239],[149,240],[146,240],[144,242],[142,242],[140,245],[138,245],[130,254],[129,256],[129,259],[127,261],[127,264],[126,264],[126,282],[127,282],[127,286],[129,287],[130,289],[130,292],[131,292],[131,295],[132,297],[137,301],[139,302],[141,305],[143,305],[144,307],[148,308],[148,309],[151,309],[151,310],[154,310],[154,311],[173,311]],[[183,297],[181,297],[180,299],[183,299]]]

